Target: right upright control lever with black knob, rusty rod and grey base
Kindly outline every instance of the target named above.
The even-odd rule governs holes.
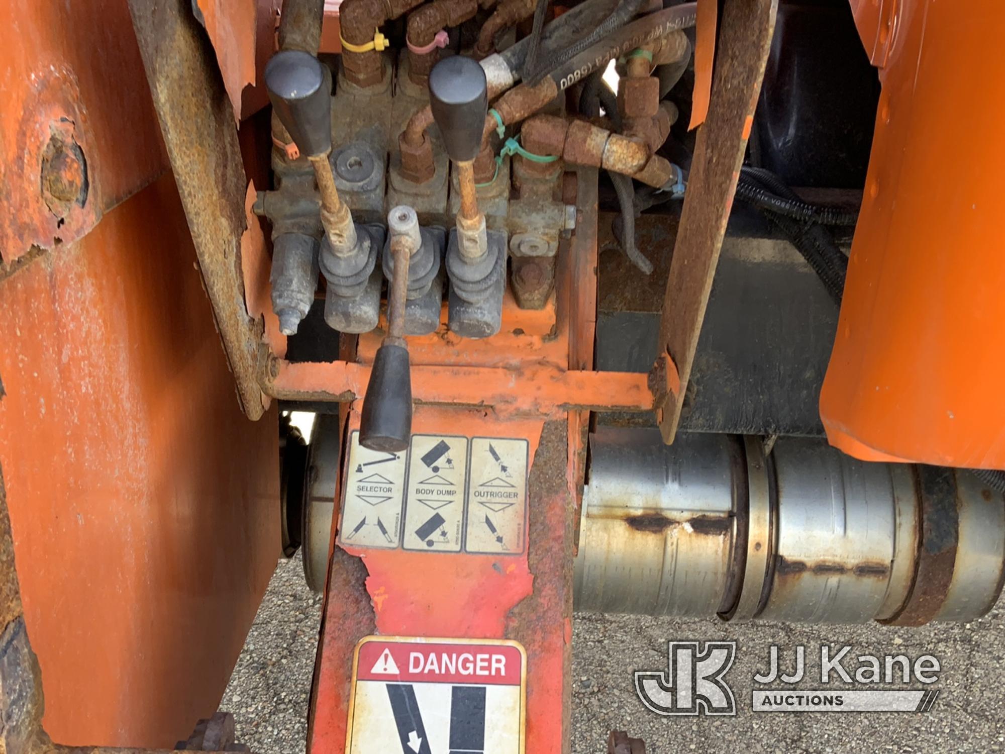
[[[484,69],[470,57],[446,57],[429,71],[429,105],[453,163],[460,196],[446,253],[449,324],[451,331],[466,338],[498,332],[506,289],[506,233],[486,231],[474,185],[474,158],[488,112],[487,89]]]

